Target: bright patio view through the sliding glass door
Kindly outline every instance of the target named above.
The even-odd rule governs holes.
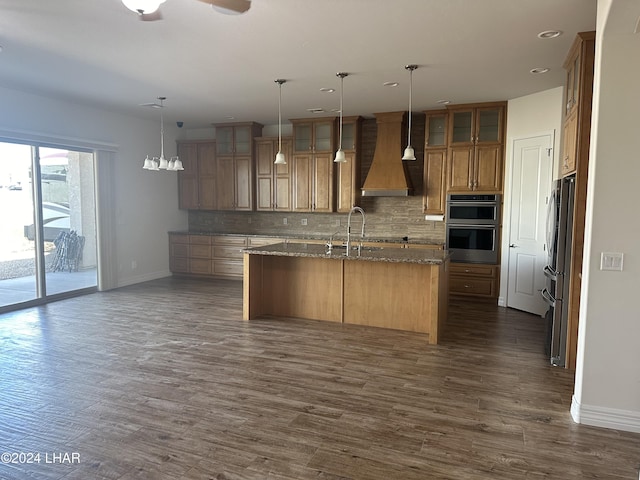
[[[0,143],[0,202],[0,308],[96,288],[93,153]]]

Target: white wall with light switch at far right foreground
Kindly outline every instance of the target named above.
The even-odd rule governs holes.
[[[585,261],[572,415],[640,432],[640,16],[637,0],[599,0]],[[624,271],[601,271],[601,252]]]

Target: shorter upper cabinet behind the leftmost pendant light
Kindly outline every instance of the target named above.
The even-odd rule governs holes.
[[[277,137],[258,137],[256,142],[256,210],[291,211],[291,137],[282,139],[285,165],[273,162],[278,153]]]

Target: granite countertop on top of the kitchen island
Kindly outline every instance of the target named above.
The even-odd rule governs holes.
[[[440,265],[449,258],[449,252],[437,249],[352,247],[346,255],[344,247],[327,248],[316,243],[276,243],[264,247],[243,249],[252,255],[275,255],[281,257],[314,257],[341,260],[365,260],[369,262],[419,263]]]

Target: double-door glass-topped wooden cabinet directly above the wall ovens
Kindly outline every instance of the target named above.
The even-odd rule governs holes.
[[[506,102],[449,108],[447,191],[500,192]]]

